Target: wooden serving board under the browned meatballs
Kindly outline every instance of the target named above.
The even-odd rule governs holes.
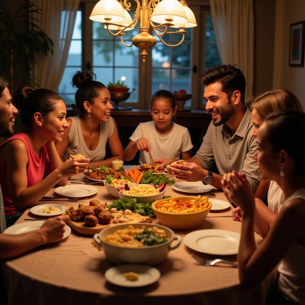
[[[133,224],[136,222],[152,222],[152,218],[148,217],[148,216],[142,216],[138,213],[132,213],[131,221],[119,222],[117,224]],[[84,221],[71,220],[69,216],[67,216],[66,223],[77,233],[84,234],[84,235],[94,235],[95,233],[99,233],[104,228],[117,225],[117,224],[113,223],[113,219],[112,219],[109,224],[99,224],[98,223],[95,227],[90,227],[87,224],[85,224]]]

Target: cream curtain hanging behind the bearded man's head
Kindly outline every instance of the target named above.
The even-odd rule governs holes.
[[[253,100],[253,0],[210,0],[210,8],[221,62],[244,73],[247,104]]]

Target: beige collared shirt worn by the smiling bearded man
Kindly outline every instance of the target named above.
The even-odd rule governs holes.
[[[253,159],[257,143],[252,137],[252,130],[251,111],[248,108],[232,137],[226,124],[214,126],[211,122],[195,157],[202,162],[204,169],[210,169],[215,162],[221,175],[232,170],[245,173],[254,193],[260,182],[260,175],[257,162]]]

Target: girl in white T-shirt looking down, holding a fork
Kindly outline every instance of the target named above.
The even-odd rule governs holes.
[[[177,106],[174,95],[167,90],[159,90],[150,102],[152,121],[140,123],[129,138],[124,150],[124,160],[132,160],[140,151],[140,164],[149,163],[149,154],[154,159],[188,159],[193,144],[186,127],[172,122]]]

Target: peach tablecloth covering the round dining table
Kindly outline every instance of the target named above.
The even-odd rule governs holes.
[[[73,178],[85,176],[77,174]],[[170,178],[174,179],[174,176]],[[71,182],[68,181],[68,184]],[[98,192],[88,199],[76,202],[60,199],[50,203],[77,207],[79,203],[88,205],[92,199],[107,204],[115,200],[102,183],[94,186]],[[54,190],[52,188],[46,196],[58,196]],[[217,188],[209,193],[214,193],[215,199],[228,202],[224,193]],[[167,185],[165,195],[189,194]],[[160,271],[160,279],[136,288],[108,282],[104,274],[114,265],[107,260],[103,250],[94,245],[92,236],[81,235],[72,229],[71,234],[61,242],[40,246],[4,261],[8,304],[265,304],[276,285],[277,268],[256,287],[245,288],[240,285],[238,268],[224,264],[203,266],[191,256],[195,253],[206,259],[223,258],[236,262],[236,254],[216,256],[201,253],[184,243],[185,235],[195,230],[219,229],[240,233],[242,223],[232,220],[232,209],[230,204],[225,210],[210,211],[197,228],[174,230],[175,235],[181,237],[181,245],[170,251],[165,261],[154,266]],[[36,216],[27,209],[16,224],[29,221],[26,219],[45,220],[46,217]],[[153,222],[160,224],[156,218]],[[255,240],[259,244],[262,238],[255,233]]]

